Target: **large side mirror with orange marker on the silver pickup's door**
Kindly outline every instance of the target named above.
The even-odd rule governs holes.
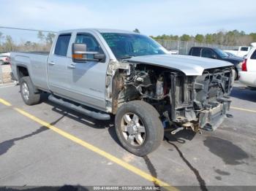
[[[86,61],[105,61],[106,56],[99,52],[87,52],[86,44],[73,43],[72,44],[72,60],[74,62]]]

